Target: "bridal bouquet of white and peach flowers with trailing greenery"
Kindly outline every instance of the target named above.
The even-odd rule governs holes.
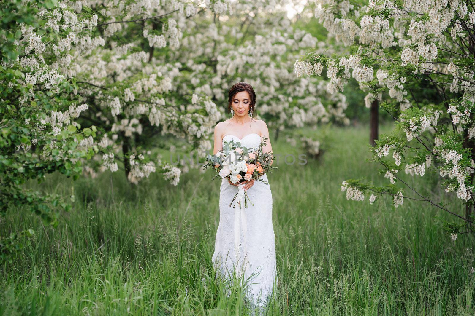
[[[234,195],[229,206],[233,204],[236,198],[239,202],[241,197],[244,196],[244,207],[247,207],[249,197],[247,192],[242,189],[244,182],[255,179],[268,185],[269,183],[260,177],[266,172],[272,172],[272,169],[278,169],[278,167],[271,167],[271,161],[275,158],[272,151],[263,152],[262,149],[265,145],[266,138],[261,141],[258,148],[246,148],[241,146],[239,141],[235,143],[232,140],[225,140],[222,150],[218,151],[216,155],[208,155],[206,157],[207,163],[203,166],[203,169],[213,166],[214,170],[218,173],[212,178],[213,180],[218,177],[226,177],[231,183],[239,184],[239,191]],[[250,203],[252,204],[252,202]],[[242,207],[242,205],[240,206]]]

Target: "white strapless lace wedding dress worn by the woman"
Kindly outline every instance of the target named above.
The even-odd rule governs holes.
[[[223,138],[223,145],[224,140],[239,141],[241,146],[257,149],[261,137],[256,133],[248,134],[243,139],[226,135]],[[261,179],[268,182],[266,174],[261,176]],[[238,205],[235,208],[229,206],[237,191],[238,187],[230,185],[228,178],[222,179],[219,225],[212,261],[218,271],[217,277],[221,275],[231,278],[234,270],[239,278],[244,271],[244,281],[247,282],[246,294],[251,307],[263,308],[273,291],[273,285],[277,284],[272,193],[270,184],[256,180],[246,191],[254,206],[248,202],[247,207],[241,211]],[[235,234],[237,231],[239,232]],[[238,249],[235,248],[236,240],[240,240]],[[245,266],[244,260],[246,260]]]

